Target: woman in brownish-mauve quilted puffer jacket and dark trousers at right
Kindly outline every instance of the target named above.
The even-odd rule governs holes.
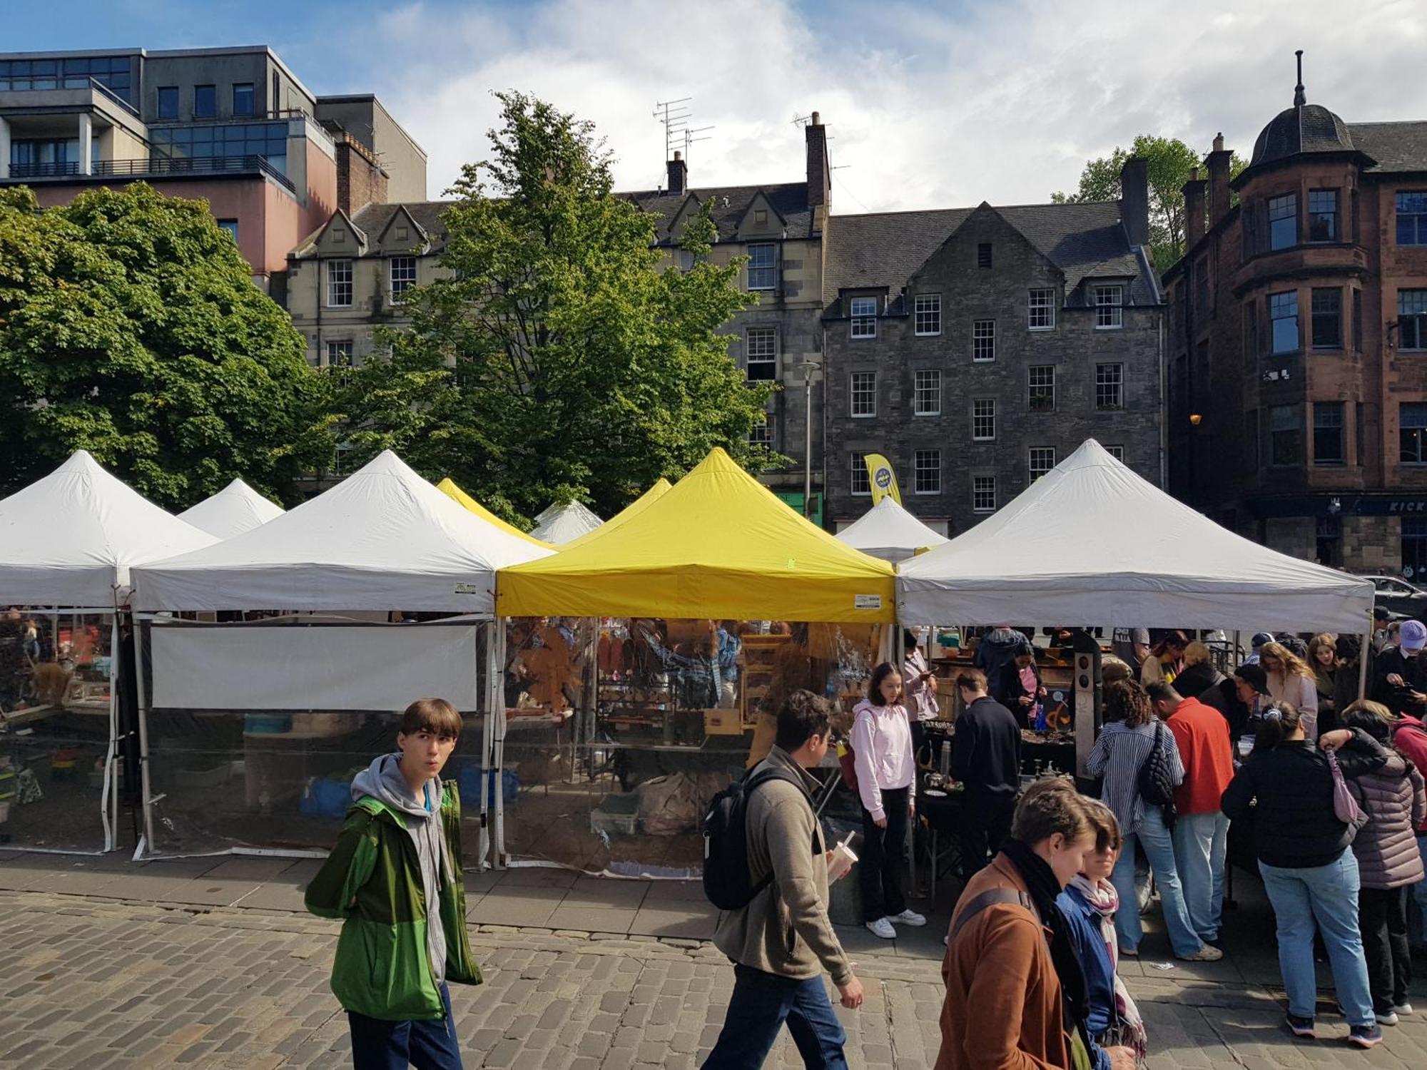
[[[1351,782],[1353,795],[1367,815],[1367,825],[1353,839],[1361,880],[1357,924],[1367,957],[1373,1014],[1384,1026],[1396,1026],[1398,1014],[1413,1013],[1407,1003],[1413,980],[1407,889],[1423,879],[1416,830],[1427,817],[1421,773],[1390,745],[1393,720],[1391,712],[1377,702],[1354,702],[1343,715],[1344,728],[1360,728],[1388,748],[1387,765]]]

